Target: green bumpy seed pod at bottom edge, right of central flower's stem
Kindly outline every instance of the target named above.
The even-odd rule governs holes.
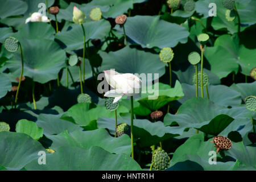
[[[162,148],[158,147],[158,149],[156,149],[153,152],[152,164],[156,170],[162,171],[169,167],[170,157],[168,156],[166,151],[164,151]]]

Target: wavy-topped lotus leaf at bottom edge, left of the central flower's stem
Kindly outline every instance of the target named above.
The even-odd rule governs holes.
[[[112,154],[101,147],[85,150],[78,147],[60,147],[47,156],[47,165],[33,160],[26,165],[28,171],[126,171],[141,170],[139,164],[126,154]]]

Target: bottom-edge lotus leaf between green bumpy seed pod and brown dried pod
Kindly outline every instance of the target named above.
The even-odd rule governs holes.
[[[212,139],[210,139],[212,140]],[[175,164],[186,162],[189,160],[190,162],[195,162],[199,164],[205,171],[223,171],[223,170],[231,170],[234,166],[235,162],[220,162],[217,158],[217,164],[210,165],[209,158],[212,155],[208,155],[210,151],[216,151],[214,144],[208,140],[204,142],[204,134],[197,134],[193,137],[189,138],[185,143],[183,143],[180,147],[176,149],[174,152],[174,156],[170,162],[170,168],[167,170],[172,170],[175,168]],[[220,156],[218,153],[217,156]],[[183,163],[185,165],[186,163]],[[202,168],[196,165],[198,170]]]

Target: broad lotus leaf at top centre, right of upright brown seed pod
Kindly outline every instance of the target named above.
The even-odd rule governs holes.
[[[116,26],[118,31],[122,28]],[[186,28],[175,23],[166,22],[160,16],[128,17],[125,32],[131,43],[139,44],[143,48],[175,47],[177,43],[187,43],[189,32]]]

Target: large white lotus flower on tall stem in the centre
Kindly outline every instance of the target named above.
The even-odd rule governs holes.
[[[134,96],[139,94],[141,88],[141,79],[131,73],[120,74],[113,70],[104,71],[106,81],[114,89],[104,94],[105,97],[115,97],[117,102],[123,95]]]

